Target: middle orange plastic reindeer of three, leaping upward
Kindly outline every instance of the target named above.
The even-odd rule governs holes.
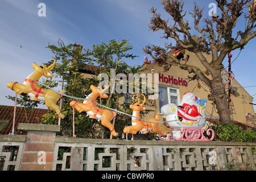
[[[109,82],[110,86],[110,82]],[[89,94],[89,97],[92,98],[92,100],[96,101],[96,99],[100,96],[101,98],[108,98],[109,96],[106,95],[105,91],[109,88],[107,86],[105,89],[102,89],[100,87],[96,87],[94,85],[90,85],[90,89],[92,90],[92,93]],[[79,113],[82,111],[86,111],[87,115],[89,115],[89,118],[97,119],[98,121],[101,121],[101,124],[105,127],[108,127],[110,132],[113,134],[114,137],[118,135],[117,132],[114,130],[114,126],[110,121],[112,121],[113,117],[117,115],[115,112],[110,111],[108,109],[101,109],[96,105],[95,102],[90,101],[90,98],[86,97],[84,102],[81,103],[79,101],[71,101],[70,106],[75,107]]]

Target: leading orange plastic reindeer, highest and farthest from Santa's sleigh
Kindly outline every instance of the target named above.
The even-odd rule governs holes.
[[[57,100],[59,100],[60,95],[53,90],[43,89],[39,86],[38,83],[32,81],[38,81],[42,76],[45,76],[47,78],[53,77],[52,73],[50,73],[56,63],[56,59],[54,57],[53,59],[54,62],[49,67],[33,63],[32,67],[35,71],[25,79],[23,84],[19,84],[18,82],[9,82],[7,84],[7,87],[14,90],[18,94],[28,94],[31,101],[46,102],[46,106],[55,110],[57,116],[63,119],[65,115],[61,113],[60,107],[56,105],[56,102]],[[60,93],[64,92],[64,90],[60,91]]]

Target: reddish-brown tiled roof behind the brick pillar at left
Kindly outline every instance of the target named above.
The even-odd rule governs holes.
[[[32,114],[31,114],[32,111]],[[17,131],[19,123],[27,123],[30,114],[31,118],[29,123],[40,123],[40,118],[43,114],[47,113],[48,109],[30,109],[25,111],[24,107],[16,107],[16,117],[14,125],[14,134],[21,134]],[[13,114],[14,106],[4,106],[0,105],[0,135],[9,135],[13,131]],[[2,126],[2,127],[1,127]]]

